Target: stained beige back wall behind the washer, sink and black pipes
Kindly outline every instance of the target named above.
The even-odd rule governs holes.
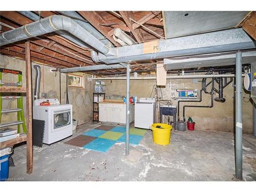
[[[163,99],[170,99],[172,92],[176,89],[197,89],[201,90],[201,79],[198,83],[193,83],[192,79],[168,79],[166,88],[162,88]],[[208,80],[209,81],[209,80]],[[207,81],[207,82],[208,82]],[[125,96],[126,84],[125,80],[104,80],[106,84],[106,98],[122,99]],[[171,90],[167,89],[168,84],[171,84]],[[234,81],[232,82],[234,83]],[[196,122],[196,129],[233,132],[234,130],[234,88],[230,83],[223,91],[223,96],[226,102],[220,103],[214,101],[213,108],[186,108],[186,120],[188,116],[192,117]],[[150,97],[156,80],[131,80],[130,81],[130,95],[139,97]],[[216,88],[218,84],[216,83]],[[210,86],[208,87],[210,91]],[[207,89],[208,90],[208,89]],[[177,93],[177,92],[176,92]],[[152,96],[155,96],[153,92]],[[242,93],[243,96],[243,133],[252,134],[252,103],[248,99],[248,92]],[[189,103],[195,105],[210,105],[210,95],[203,94],[201,103]],[[215,93],[214,97],[218,97]],[[177,101],[172,99],[172,104],[177,106]],[[180,103],[180,117],[182,120],[182,112],[184,103]],[[188,103],[186,103],[188,104]],[[163,118],[164,119],[164,118]],[[164,119],[166,122],[166,119]]]

